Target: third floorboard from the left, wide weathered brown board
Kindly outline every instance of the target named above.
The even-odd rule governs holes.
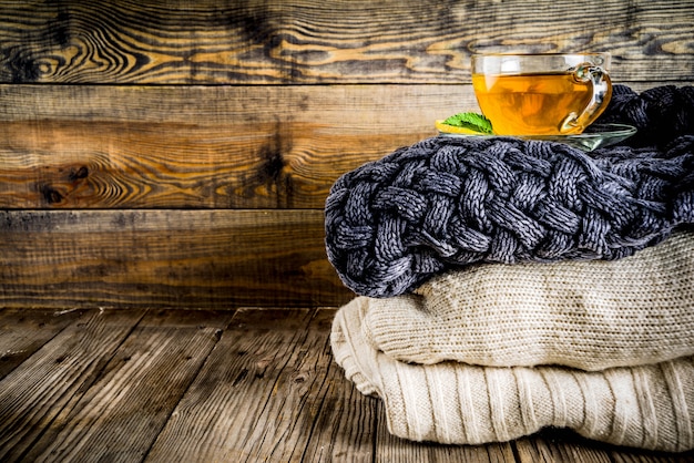
[[[147,313],[27,453],[28,461],[142,461],[232,319],[232,311]]]

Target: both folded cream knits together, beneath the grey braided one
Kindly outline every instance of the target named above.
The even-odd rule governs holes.
[[[479,444],[559,426],[691,450],[693,260],[694,235],[680,233],[611,263],[479,266],[415,296],[355,299],[331,347],[400,438]]]

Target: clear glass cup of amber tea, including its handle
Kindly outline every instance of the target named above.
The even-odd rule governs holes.
[[[612,96],[609,53],[474,54],[474,95],[497,135],[575,135]]]

